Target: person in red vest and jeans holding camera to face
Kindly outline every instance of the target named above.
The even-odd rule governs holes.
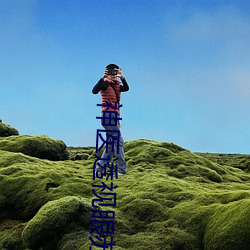
[[[120,78],[121,82],[118,81],[118,78]],[[106,171],[106,164],[109,164],[114,156],[116,156],[117,159],[117,163],[114,163],[117,164],[118,175],[123,175],[127,173],[128,165],[125,162],[124,157],[124,140],[120,132],[120,99],[121,92],[126,92],[128,90],[129,86],[125,77],[123,76],[122,69],[119,68],[116,64],[107,65],[102,78],[93,87],[92,93],[98,94],[99,92],[101,92],[102,96],[102,126],[105,128],[105,130],[113,131],[106,133],[107,138],[109,138],[109,140],[112,138],[116,138],[116,140],[114,140],[115,149],[112,148],[111,143],[108,143],[106,145],[106,147],[108,147],[108,150],[106,149],[103,151],[99,165],[97,164],[96,167],[97,176],[100,176],[99,172],[104,173]],[[112,109],[108,110],[112,112],[107,112],[107,102],[112,105]],[[109,117],[111,122],[107,125],[104,122],[104,118],[108,118],[108,115],[111,116]],[[117,144],[117,142],[119,142],[119,144]],[[118,152],[117,147],[119,149]]]

